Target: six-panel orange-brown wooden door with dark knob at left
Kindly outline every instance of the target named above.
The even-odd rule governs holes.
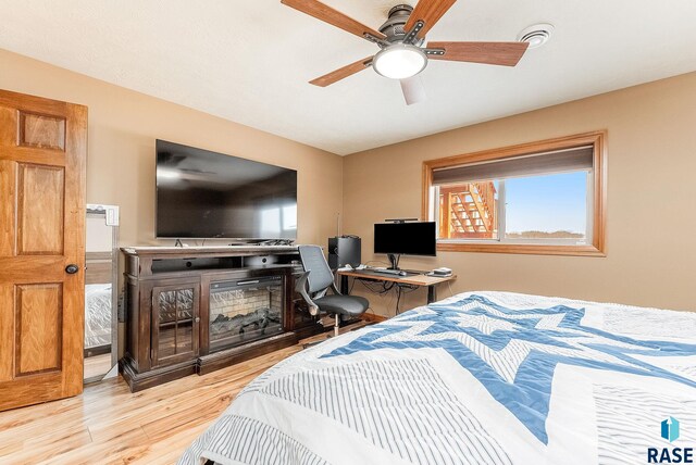
[[[0,90],[0,411],[83,389],[86,152],[87,108]]]

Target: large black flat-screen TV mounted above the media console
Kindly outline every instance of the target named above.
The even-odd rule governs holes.
[[[297,172],[157,141],[159,238],[297,238]]]

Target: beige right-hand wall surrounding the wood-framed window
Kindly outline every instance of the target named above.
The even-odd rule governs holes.
[[[455,292],[696,310],[696,73],[349,155],[344,230],[362,237],[363,262],[384,261],[371,252],[372,224],[421,216],[424,160],[596,129],[608,130],[607,257],[440,252],[402,266],[449,266]],[[393,297],[361,293],[377,313],[394,313]],[[424,301],[413,292],[400,307]]]

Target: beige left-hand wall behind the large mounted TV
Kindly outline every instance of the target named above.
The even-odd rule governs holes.
[[[122,246],[172,243],[154,239],[154,139],[297,169],[299,241],[335,234],[338,155],[4,50],[0,88],[89,108],[87,202],[121,206]]]

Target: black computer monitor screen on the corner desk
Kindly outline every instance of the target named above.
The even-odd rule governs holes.
[[[435,256],[436,248],[435,222],[374,225],[374,253]]]

